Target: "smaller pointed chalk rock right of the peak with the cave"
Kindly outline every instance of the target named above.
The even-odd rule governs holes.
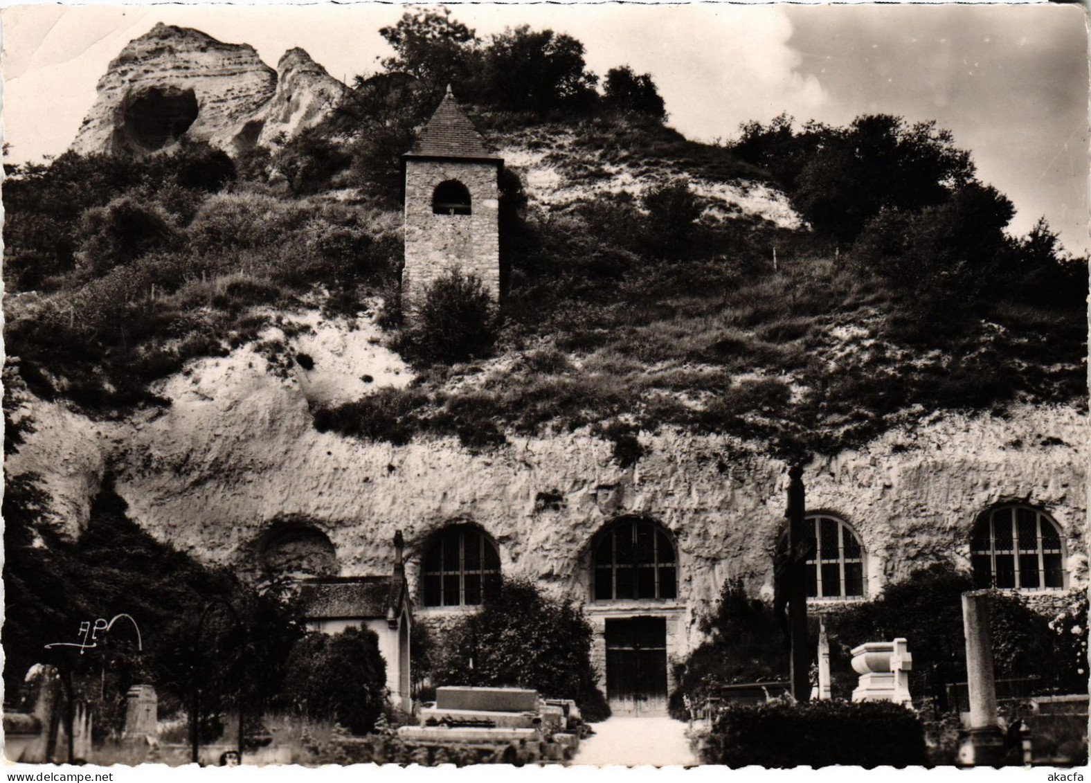
[[[261,123],[257,143],[267,146],[291,138],[322,122],[334,110],[345,85],[300,48],[289,49],[277,63],[276,92],[252,123]],[[249,125],[252,133],[254,124]]]

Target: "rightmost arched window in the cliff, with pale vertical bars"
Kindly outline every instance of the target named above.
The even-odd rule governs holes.
[[[1036,508],[998,506],[973,528],[970,562],[980,588],[1064,589],[1062,559],[1057,523]]]

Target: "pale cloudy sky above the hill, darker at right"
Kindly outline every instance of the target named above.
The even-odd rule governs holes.
[[[1040,216],[1065,246],[1088,240],[1088,59],[1079,5],[466,4],[482,37],[550,27],[586,46],[604,74],[650,73],[669,124],[728,140],[787,111],[844,124],[861,113],[936,120],[970,149],[980,179],[1016,204],[1014,233]],[[0,12],[4,141],[14,160],[63,152],[109,61],[156,22],[248,43],[276,64],[301,46],[338,79],[380,69],[379,35],[404,8],[358,3],[29,5]]]

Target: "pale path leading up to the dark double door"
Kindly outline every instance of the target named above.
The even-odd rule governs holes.
[[[573,764],[697,763],[686,739],[686,724],[670,718],[610,718],[592,726],[595,735],[579,744]]]

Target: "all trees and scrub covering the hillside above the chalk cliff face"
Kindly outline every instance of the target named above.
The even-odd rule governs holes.
[[[533,152],[572,197],[536,201],[518,166],[503,176],[499,359],[482,356],[491,327],[464,356],[436,348],[453,312],[405,334],[387,317],[415,387],[316,410],[323,429],[488,448],[671,425],[796,459],[936,409],[1086,397],[1086,260],[1044,220],[1006,233],[1011,203],[933,123],[781,117],[699,144],[663,124],[650,76],[599,80],[570,36],[481,39],[446,11],[383,35],[384,71],[271,149],[9,167],[5,338],[37,395],[88,412],[161,405],[156,380],[262,345],[278,311],[393,304],[399,156],[449,83],[494,145]],[[598,188],[622,176],[637,184]],[[717,183],[774,183],[808,225],[762,219]]]

